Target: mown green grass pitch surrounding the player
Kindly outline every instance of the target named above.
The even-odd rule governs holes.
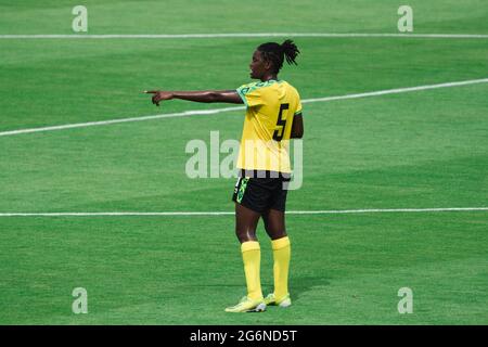
[[[292,2],[292,1],[290,1]],[[88,34],[398,33],[393,1],[94,1]],[[420,1],[413,34],[488,34],[484,1]],[[0,1],[0,35],[73,34],[64,1]],[[259,10],[259,11],[257,11]],[[266,14],[266,15],[262,15]],[[488,77],[488,39],[294,38],[303,99]],[[146,89],[248,82],[280,38],[0,39],[0,132],[222,107],[159,108]],[[488,83],[304,105],[290,210],[485,207]],[[189,179],[192,139],[241,137],[243,112],[0,137],[0,214],[232,211],[234,179]],[[294,306],[245,293],[233,216],[0,217],[0,324],[487,324],[488,213],[288,215]],[[261,279],[272,286],[260,223]],[[88,291],[74,314],[72,291]],[[413,291],[400,314],[398,290]]]

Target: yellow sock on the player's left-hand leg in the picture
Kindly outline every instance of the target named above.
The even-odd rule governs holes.
[[[261,299],[261,280],[259,277],[261,249],[259,248],[259,242],[243,242],[241,252],[242,259],[244,260],[244,272],[246,274],[247,296],[253,300]]]

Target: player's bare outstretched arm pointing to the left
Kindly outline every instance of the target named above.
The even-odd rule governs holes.
[[[181,99],[194,102],[226,102],[231,104],[243,104],[241,97],[235,90],[204,90],[204,91],[162,91],[150,90],[147,94],[153,94],[153,104],[159,106],[164,100]]]

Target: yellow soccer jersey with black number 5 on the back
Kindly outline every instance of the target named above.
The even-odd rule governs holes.
[[[301,112],[300,97],[284,80],[237,88],[247,106],[237,168],[291,174],[288,144],[293,117]]]

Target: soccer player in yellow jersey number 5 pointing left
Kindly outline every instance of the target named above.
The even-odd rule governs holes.
[[[301,138],[301,103],[295,88],[278,79],[286,59],[295,64],[299,51],[295,43],[260,44],[253,54],[251,78],[258,82],[236,90],[146,91],[153,104],[171,99],[194,102],[224,102],[246,105],[246,117],[239,151],[240,175],[232,200],[235,202],[235,233],[241,242],[247,295],[227,312],[265,311],[267,305],[288,307],[290,239],[285,230],[286,189],[291,176],[288,141]],[[274,292],[266,298],[260,285],[260,247],[256,227],[262,217],[273,249]]]

